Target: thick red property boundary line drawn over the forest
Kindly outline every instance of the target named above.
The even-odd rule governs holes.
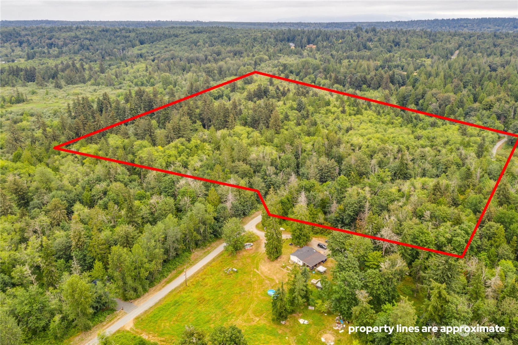
[[[138,118],[140,118],[142,116],[146,116],[146,115],[148,115],[150,113],[153,113],[155,111],[158,111],[158,110],[170,107],[172,105],[175,105],[175,104],[178,104],[180,102],[183,102],[184,100],[187,100],[187,99],[199,96],[201,94],[204,94],[206,92],[212,91],[214,89],[221,88],[224,85],[233,83],[233,82],[235,82],[237,80],[240,80],[240,79],[243,79],[243,78],[246,78],[246,77],[250,77],[252,75],[260,75],[260,76],[264,76],[264,77],[269,77],[269,78],[274,78],[274,79],[278,79],[278,80],[283,80],[283,81],[287,81],[287,82],[291,82],[291,83],[295,83],[295,84],[299,84],[299,85],[304,85],[306,87],[310,87],[310,88],[314,88],[314,89],[319,89],[319,90],[323,90],[323,91],[327,91],[327,92],[331,92],[331,93],[336,93],[336,94],[339,94],[339,95],[348,96],[348,97],[352,97],[352,98],[362,99],[362,100],[366,100],[368,102],[385,105],[387,107],[392,107],[392,108],[397,108],[397,109],[401,109],[401,110],[411,111],[411,112],[415,112],[415,113],[418,113],[418,114],[423,114],[423,115],[426,115],[426,116],[434,117],[434,118],[437,118],[437,119],[446,120],[446,121],[455,122],[455,123],[460,123],[460,124],[464,124],[464,125],[467,125],[467,126],[480,128],[482,130],[487,130],[487,131],[491,131],[491,132],[495,132],[495,133],[499,133],[499,134],[508,135],[508,136],[517,137],[518,138],[518,134],[513,134],[513,133],[508,133],[508,132],[504,132],[504,131],[500,131],[500,130],[495,130],[495,128],[485,127],[485,126],[481,126],[481,125],[478,125],[478,124],[469,123],[469,122],[465,122],[465,121],[461,121],[461,120],[450,119],[450,118],[447,118],[447,117],[443,117],[443,116],[440,116],[440,115],[428,113],[428,112],[425,112],[425,111],[416,110],[416,109],[410,109],[410,108],[402,107],[402,106],[399,106],[399,105],[396,105],[396,104],[382,102],[381,100],[371,99],[371,98],[367,98],[367,97],[362,97],[362,96],[350,94],[350,93],[347,93],[347,92],[341,92],[341,91],[337,91],[337,90],[333,90],[333,89],[328,89],[328,88],[320,87],[318,85],[312,85],[312,84],[308,84],[308,83],[301,82],[301,81],[298,81],[298,80],[292,80],[292,79],[288,79],[288,78],[283,78],[283,77],[271,75],[271,74],[260,72],[260,71],[252,71],[252,72],[247,73],[245,75],[242,75],[240,77],[237,77],[237,78],[225,81],[225,82],[223,82],[221,84],[218,84],[218,85],[214,85],[213,87],[208,88],[206,90],[202,90],[202,91],[196,92],[196,93],[194,93],[192,95],[185,96],[183,98],[177,99],[174,102],[171,102],[171,103],[165,104],[163,106],[157,107],[155,109],[143,112],[141,114],[138,114],[138,115],[136,115],[134,117],[131,117],[131,118],[128,118],[126,120],[119,121],[117,123],[111,124],[111,125],[109,125],[107,127],[104,127],[104,128],[100,128],[99,130],[94,131],[92,133],[88,133],[88,134],[82,135],[82,136],[80,136],[78,138],[66,141],[66,142],[64,142],[64,143],[62,143],[60,145],[55,146],[54,150],[59,150],[59,151],[63,151],[63,152],[79,154],[79,155],[86,156],[86,157],[91,157],[91,158],[96,158],[96,159],[100,159],[100,160],[105,160],[105,161],[108,161],[108,162],[125,164],[125,165],[129,165],[129,166],[137,167],[137,168],[149,169],[149,170],[154,170],[154,171],[158,171],[158,172],[164,172],[164,174],[176,175],[176,176],[181,176],[181,177],[185,177],[185,178],[190,178],[190,179],[195,179],[195,180],[205,181],[205,182],[211,182],[211,183],[225,185],[225,186],[229,186],[229,187],[233,187],[233,188],[238,188],[238,189],[242,189],[242,190],[246,190],[246,191],[255,192],[259,196],[259,199],[261,200],[261,203],[263,204],[263,206],[264,206],[264,208],[266,210],[266,213],[270,217],[280,218],[280,219],[289,220],[289,221],[293,221],[293,222],[298,222],[298,223],[302,223],[302,224],[306,224],[306,225],[319,226],[319,227],[322,227],[322,228],[325,228],[325,229],[340,231],[340,232],[347,233],[347,234],[352,234],[352,235],[363,236],[363,237],[367,237],[367,238],[378,240],[378,241],[390,242],[390,243],[394,243],[394,244],[400,245],[400,246],[406,246],[406,247],[410,247],[410,248],[421,249],[421,250],[425,250],[425,251],[428,251],[428,252],[433,252],[433,253],[438,253],[438,254],[443,254],[443,255],[449,255],[449,256],[458,257],[458,258],[463,258],[464,255],[466,255],[466,252],[467,252],[468,247],[469,247],[469,245],[471,243],[471,240],[473,239],[473,236],[477,232],[477,229],[478,229],[478,227],[480,225],[480,222],[482,221],[482,218],[484,217],[484,213],[486,212],[487,207],[491,203],[491,199],[493,198],[493,195],[495,194],[495,191],[496,191],[496,189],[498,187],[498,184],[500,183],[500,180],[502,179],[502,176],[505,173],[505,171],[507,169],[507,166],[509,165],[509,161],[511,160],[511,157],[514,154],[516,146],[518,145],[518,140],[516,140],[512,150],[511,150],[511,153],[509,154],[509,157],[507,158],[506,163],[503,166],[503,169],[500,172],[500,175],[498,176],[498,179],[496,180],[495,186],[493,187],[493,190],[491,191],[491,195],[490,195],[489,199],[487,199],[487,202],[486,202],[486,204],[484,206],[484,209],[483,209],[482,213],[480,214],[480,217],[479,217],[479,220],[477,222],[477,225],[475,225],[475,227],[473,229],[473,232],[471,233],[471,236],[469,237],[468,243],[466,244],[466,247],[464,248],[464,251],[463,251],[462,254],[455,254],[455,253],[444,252],[444,251],[433,249],[433,248],[426,248],[426,247],[416,246],[416,245],[412,245],[410,243],[394,241],[394,240],[390,240],[390,239],[386,239],[386,238],[381,238],[381,237],[377,237],[377,236],[371,236],[371,235],[367,235],[367,234],[357,233],[357,232],[354,232],[354,231],[350,231],[350,230],[346,230],[346,229],[340,229],[340,228],[336,228],[336,227],[333,227],[333,226],[316,224],[316,223],[307,222],[307,221],[303,221],[303,220],[300,220],[300,219],[294,219],[294,218],[290,218],[290,217],[283,217],[282,215],[271,213],[268,210],[268,207],[266,206],[266,203],[265,203],[265,201],[263,199],[263,196],[261,195],[261,192],[256,190],[256,189],[253,189],[253,188],[248,188],[248,187],[240,186],[240,185],[237,185],[237,184],[210,180],[210,179],[206,179],[206,178],[203,178],[203,177],[197,177],[197,176],[182,174],[181,172],[175,172],[175,171],[169,171],[169,170],[154,168],[154,167],[151,167],[151,166],[146,166],[146,165],[135,164],[135,163],[131,163],[131,162],[120,161],[120,160],[116,160],[116,159],[112,159],[112,158],[108,158],[108,157],[102,157],[102,156],[98,156],[98,155],[94,155],[94,154],[89,154],[89,153],[84,153],[84,152],[79,152],[79,151],[74,151],[74,150],[69,150],[69,149],[64,149],[63,148],[64,146],[67,146],[67,145],[69,145],[71,143],[74,143],[76,141],[79,141],[81,139],[88,138],[88,137],[90,137],[90,136],[92,136],[94,134],[104,132],[106,130],[109,130],[110,128],[119,126],[119,125],[121,125],[123,123],[126,123],[126,122],[133,121],[133,120],[138,119]]]

